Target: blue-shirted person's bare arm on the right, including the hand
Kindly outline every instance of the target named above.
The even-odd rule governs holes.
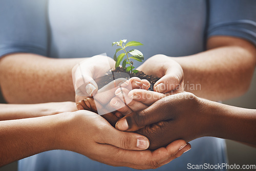
[[[209,38],[207,48],[184,57],[155,55],[138,70],[161,77],[154,86],[159,93],[175,88],[180,92],[184,85],[185,91],[216,101],[244,94],[256,64],[255,46],[241,38],[214,36]]]

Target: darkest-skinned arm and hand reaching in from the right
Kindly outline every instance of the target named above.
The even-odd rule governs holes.
[[[256,144],[255,110],[201,99],[191,93],[179,93],[164,98],[156,92],[142,96],[145,93],[147,92],[133,90],[129,95],[134,95],[134,100],[139,103],[152,105],[140,112],[126,115],[117,122],[116,128],[121,131],[138,130],[137,133],[150,140],[153,148],[176,139],[188,142],[204,136]],[[159,96],[161,99],[154,103],[145,98],[148,96]]]

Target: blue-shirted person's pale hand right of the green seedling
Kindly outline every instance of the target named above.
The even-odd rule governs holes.
[[[137,70],[160,77],[154,85],[154,91],[158,93],[176,94],[184,91],[183,70],[179,63],[168,56],[152,56]]]

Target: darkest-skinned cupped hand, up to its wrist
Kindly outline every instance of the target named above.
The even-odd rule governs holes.
[[[178,139],[188,142],[207,133],[209,122],[207,116],[202,115],[204,105],[201,103],[191,93],[166,96],[142,111],[121,118],[116,129],[146,136],[151,142],[150,149]]]

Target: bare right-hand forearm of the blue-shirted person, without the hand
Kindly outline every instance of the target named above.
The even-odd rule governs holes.
[[[232,39],[236,42],[236,38]],[[256,52],[249,42],[239,41],[243,44],[209,45],[205,52],[173,57],[183,69],[185,91],[210,100],[224,100],[245,93],[254,72]]]

